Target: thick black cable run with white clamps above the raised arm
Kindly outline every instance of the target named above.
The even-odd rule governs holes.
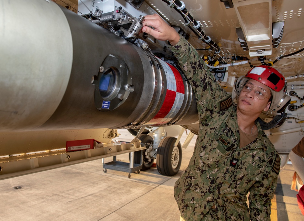
[[[206,44],[208,44],[209,46],[213,47],[215,49],[215,52],[213,54],[212,57],[209,58],[209,60],[214,60],[214,58],[217,56],[217,54],[220,53],[220,48],[219,46],[211,40],[211,38],[209,36],[207,36],[202,28],[200,27],[199,22],[197,22],[188,12],[188,10],[185,8],[185,3],[181,2],[179,0],[174,0],[174,1],[166,1],[166,0],[162,0],[163,2],[166,2],[168,4],[169,7],[174,7],[175,10],[177,10],[185,19],[186,25],[189,26],[190,23],[192,24],[192,26],[189,26],[189,28],[195,33],[196,36],[198,36],[199,40],[202,40],[203,42],[205,42]],[[196,29],[196,30],[195,30]]]

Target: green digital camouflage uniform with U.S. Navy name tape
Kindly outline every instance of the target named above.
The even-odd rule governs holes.
[[[216,83],[183,37],[171,50],[195,92],[200,124],[193,156],[174,187],[181,216],[185,220],[270,220],[280,168],[274,146],[256,122],[257,138],[240,148],[231,95]]]

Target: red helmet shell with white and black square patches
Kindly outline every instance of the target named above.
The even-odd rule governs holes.
[[[281,91],[285,86],[283,75],[277,69],[266,65],[252,68],[245,77],[259,81],[275,92]]]

